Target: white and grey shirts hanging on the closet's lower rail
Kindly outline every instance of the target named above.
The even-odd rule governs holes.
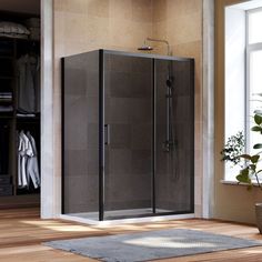
[[[30,180],[34,189],[40,187],[37,147],[33,137],[23,131],[19,133],[18,143],[18,185],[29,188]]]

